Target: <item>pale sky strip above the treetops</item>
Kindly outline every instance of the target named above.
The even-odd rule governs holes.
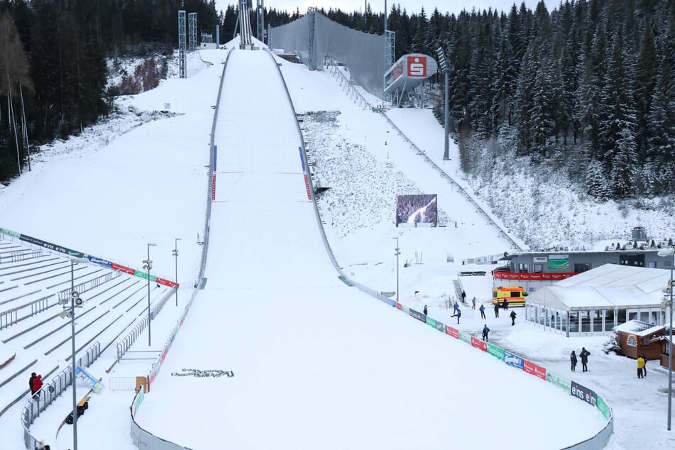
[[[527,8],[534,10],[539,3],[539,0],[522,0],[522,1],[513,1],[513,0],[444,0],[444,1],[432,1],[432,0],[401,0],[401,1],[387,1],[387,9],[391,9],[392,4],[400,4],[401,9],[405,8],[407,13],[419,13],[424,7],[424,11],[427,12],[427,17],[430,13],[434,11],[434,8],[438,8],[440,13],[454,13],[458,14],[463,9],[466,11],[471,11],[471,9],[476,8],[476,10],[488,9],[490,6],[493,9],[498,9],[500,11],[510,11],[511,6],[515,3],[520,7],[522,2],[525,2]],[[256,4],[256,0],[253,0],[253,3]],[[545,0],[547,8],[549,11],[553,7],[558,6],[558,2],[554,0]],[[233,4],[232,1],[227,0],[216,0],[216,9],[224,10],[227,5]],[[309,1],[297,1],[297,0],[268,0],[265,1],[265,8],[275,8],[278,10],[285,11],[295,11],[295,9],[300,9],[301,13],[307,11],[307,8],[310,6],[315,6],[317,8],[334,8],[341,9],[342,11],[363,11],[365,8],[365,3],[358,0],[309,0]],[[385,2],[379,1],[377,3],[371,1],[371,10],[373,12],[381,12],[385,8]]]

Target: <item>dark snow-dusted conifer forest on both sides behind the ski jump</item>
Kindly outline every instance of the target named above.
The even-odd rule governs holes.
[[[109,113],[106,60],[170,57],[179,9],[197,12],[198,35],[216,24],[221,42],[234,35],[238,9],[216,11],[213,0],[0,0],[0,180],[26,166],[26,141],[65,138]],[[383,32],[383,14],[370,5],[319,12]],[[266,9],[265,23],[301,14]],[[534,11],[514,4],[459,15],[394,4],[388,28],[396,58],[435,57],[439,47],[449,56],[465,170],[476,143],[499,137],[598,199],[675,192],[675,1],[569,0],[553,11],[540,2]],[[442,79],[432,82],[439,92]]]

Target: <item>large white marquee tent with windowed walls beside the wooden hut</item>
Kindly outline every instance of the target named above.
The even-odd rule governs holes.
[[[664,324],[669,279],[670,270],[601,265],[530,294],[525,320],[566,336],[610,334],[630,320]]]

